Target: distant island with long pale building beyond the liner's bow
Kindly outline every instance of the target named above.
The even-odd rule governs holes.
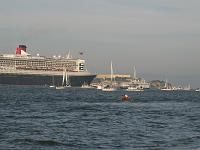
[[[141,77],[136,76],[136,71],[134,71],[133,75],[129,74],[113,74],[112,79],[110,74],[98,74],[96,78],[92,82],[92,86],[97,87],[107,86],[110,84],[112,80],[112,84],[116,88],[120,89],[128,89],[128,88],[136,88],[136,89],[159,89],[164,91],[176,91],[176,90],[184,90],[190,91],[190,84],[187,86],[179,85],[175,86],[173,83],[169,83],[167,80],[152,80],[146,81]]]

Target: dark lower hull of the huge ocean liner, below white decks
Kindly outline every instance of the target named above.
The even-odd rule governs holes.
[[[90,84],[96,75],[70,76],[71,86],[81,86]],[[47,75],[19,75],[19,74],[0,74],[0,84],[11,85],[55,85],[62,84],[62,76]]]

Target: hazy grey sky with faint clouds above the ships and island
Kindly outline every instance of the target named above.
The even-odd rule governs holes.
[[[92,73],[200,87],[200,0],[0,0],[0,53],[84,53]]]

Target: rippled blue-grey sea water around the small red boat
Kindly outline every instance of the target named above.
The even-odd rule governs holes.
[[[0,86],[0,149],[200,150],[200,92]]]

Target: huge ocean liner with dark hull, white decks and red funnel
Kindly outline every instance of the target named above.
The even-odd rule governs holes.
[[[86,71],[84,59],[31,56],[26,45],[19,45],[16,54],[0,55],[0,84],[59,86],[64,69],[71,86],[90,85],[96,76]]]

